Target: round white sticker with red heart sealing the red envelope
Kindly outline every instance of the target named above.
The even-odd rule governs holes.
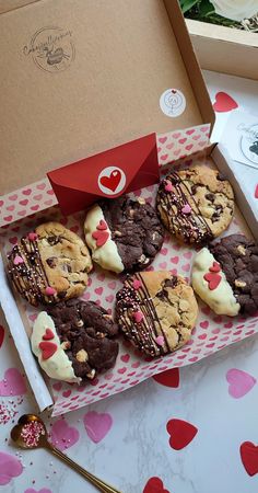
[[[106,195],[116,195],[126,186],[126,175],[120,168],[107,167],[98,175],[97,184]]]

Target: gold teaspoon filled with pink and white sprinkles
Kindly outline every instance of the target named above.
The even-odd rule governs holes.
[[[104,481],[99,480],[91,472],[87,472],[72,459],[67,457],[58,448],[56,448],[47,439],[47,429],[40,417],[35,414],[24,414],[20,417],[17,425],[11,431],[11,438],[20,448],[47,448],[54,456],[63,460],[70,468],[83,475],[90,483],[94,484],[98,491],[103,493],[121,493],[113,486],[109,486]]]

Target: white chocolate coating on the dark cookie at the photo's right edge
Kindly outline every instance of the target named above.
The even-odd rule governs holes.
[[[191,284],[199,297],[218,314],[234,317],[239,312],[241,305],[236,301],[231,285],[227,283],[225,274],[221,271],[222,277],[215,289],[209,289],[209,283],[204,275],[215,262],[214,256],[207,248],[197,253],[191,271]]]

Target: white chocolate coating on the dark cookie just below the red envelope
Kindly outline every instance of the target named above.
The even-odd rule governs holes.
[[[92,237],[92,233],[96,231],[101,220],[105,221],[102,208],[98,205],[94,205],[89,210],[84,222],[86,244],[92,251],[92,260],[107,271],[120,273],[124,271],[125,266],[118,253],[117,245],[115,241],[112,240],[110,229],[107,228],[106,231],[109,233],[109,238],[102,246],[97,246],[96,240]]]

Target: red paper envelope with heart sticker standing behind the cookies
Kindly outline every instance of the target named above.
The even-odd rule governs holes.
[[[47,173],[63,214],[82,210],[99,198],[119,195],[159,182],[156,135]]]

